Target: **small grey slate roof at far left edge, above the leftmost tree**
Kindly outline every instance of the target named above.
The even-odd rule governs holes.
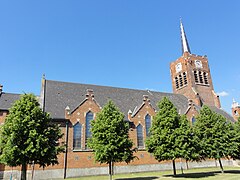
[[[0,96],[0,109],[8,110],[12,104],[20,98],[20,94],[5,93]]]

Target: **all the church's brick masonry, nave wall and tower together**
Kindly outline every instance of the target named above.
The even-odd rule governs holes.
[[[201,67],[196,67],[195,61],[199,60],[202,63]],[[176,71],[176,65],[181,63],[181,68]],[[196,83],[194,77],[194,71],[202,71],[207,73],[207,84]],[[192,118],[198,114],[198,111],[195,107],[195,104],[201,106],[203,103],[220,107],[220,101],[218,96],[214,93],[212,79],[210,75],[210,69],[208,66],[208,60],[205,56],[197,56],[189,53],[184,53],[183,56],[178,58],[176,61],[170,64],[170,71],[172,77],[172,86],[173,92],[176,94],[183,94],[189,99],[188,109],[186,112],[181,112],[181,114],[186,114],[189,121],[191,122]],[[179,76],[181,73],[186,72],[187,84],[183,85],[180,88],[176,88],[175,77]],[[44,173],[48,174],[49,172],[55,174],[56,177],[63,177],[63,171],[66,169],[66,173],[68,177],[72,176],[82,176],[82,175],[92,175],[94,174],[107,174],[107,165],[99,164],[94,161],[93,153],[91,150],[85,148],[85,131],[86,131],[86,115],[88,112],[93,113],[94,118],[96,114],[101,110],[100,105],[94,98],[94,92],[92,90],[87,91],[87,95],[82,102],[79,102],[79,105],[75,109],[66,108],[65,110],[65,119],[61,124],[62,132],[64,133],[64,137],[62,139],[63,142],[67,142],[67,156],[65,153],[59,155],[59,164],[55,166],[49,166],[45,168]],[[0,112],[0,123],[4,122],[7,111]],[[134,143],[134,147],[137,147],[137,131],[136,127],[141,124],[143,127],[143,140],[146,139],[146,124],[145,117],[149,115],[151,119],[156,114],[156,110],[151,105],[151,99],[148,96],[143,96],[142,104],[138,109],[134,112],[128,112],[128,120],[131,122],[131,127],[129,130],[129,137]],[[57,121],[56,122],[60,122]],[[66,124],[68,122],[68,124]],[[82,125],[82,135],[81,135],[81,149],[74,150],[73,149],[73,127],[76,123],[80,123]],[[66,136],[68,134],[68,136]],[[68,137],[66,139],[66,137]],[[155,169],[161,169],[161,167],[168,167],[169,162],[161,162],[159,163],[154,159],[154,157],[149,154],[145,147],[139,149],[138,152],[135,153],[137,158],[131,162],[128,166],[126,163],[116,163],[117,172],[140,172],[140,171],[152,171]],[[179,165],[179,161],[178,165]],[[197,165],[193,166],[197,167]],[[31,166],[29,165],[29,172],[31,170]],[[40,167],[35,167],[36,175],[42,177]],[[94,170],[94,171],[92,171]],[[6,172],[7,174],[11,171],[10,167],[0,166],[0,171]],[[19,171],[19,167],[13,168],[14,172]],[[50,173],[51,174],[51,173]]]

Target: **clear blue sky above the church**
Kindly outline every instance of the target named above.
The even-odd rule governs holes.
[[[181,56],[207,55],[224,110],[240,102],[240,1],[41,0],[0,2],[0,84],[40,94],[46,79],[172,92]]]

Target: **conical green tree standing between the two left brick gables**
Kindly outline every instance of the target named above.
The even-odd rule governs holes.
[[[112,178],[113,164],[129,163],[134,159],[133,143],[129,139],[129,126],[124,122],[124,115],[112,101],[103,107],[96,119],[91,122],[92,137],[88,146],[93,149],[97,162],[109,165],[109,177]]]

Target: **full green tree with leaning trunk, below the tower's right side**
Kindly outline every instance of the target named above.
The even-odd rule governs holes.
[[[203,106],[196,119],[194,132],[199,138],[200,154],[204,159],[218,160],[223,173],[221,158],[228,158],[233,148],[232,124],[207,106]]]

